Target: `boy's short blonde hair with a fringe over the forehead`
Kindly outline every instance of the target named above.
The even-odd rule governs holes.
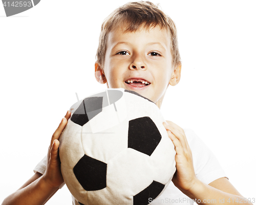
[[[166,29],[170,34],[173,66],[181,63],[175,23],[169,16],[151,2],[130,2],[114,10],[101,25],[99,45],[96,54],[97,63],[103,68],[109,33],[120,26],[124,32],[135,32],[141,27],[149,30],[156,26]]]

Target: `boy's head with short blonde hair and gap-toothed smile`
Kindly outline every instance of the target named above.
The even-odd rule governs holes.
[[[127,3],[104,20],[96,58],[99,82],[135,90],[154,102],[162,100],[168,84],[179,82],[181,60],[175,24],[150,2]]]

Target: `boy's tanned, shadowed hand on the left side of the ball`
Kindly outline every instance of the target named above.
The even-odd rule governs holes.
[[[67,111],[65,118],[62,118],[58,128],[52,135],[51,144],[47,154],[47,168],[44,177],[46,183],[51,187],[59,187],[63,183],[63,177],[60,171],[60,160],[58,154],[59,137],[68,123],[71,112]]]

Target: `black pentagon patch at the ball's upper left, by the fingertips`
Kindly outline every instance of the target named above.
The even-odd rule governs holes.
[[[82,101],[71,117],[71,121],[83,126],[102,111],[103,97],[89,97]]]

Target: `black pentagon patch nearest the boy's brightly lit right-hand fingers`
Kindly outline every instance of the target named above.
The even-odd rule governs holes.
[[[162,136],[150,117],[137,118],[129,121],[128,148],[151,155],[159,144]]]

